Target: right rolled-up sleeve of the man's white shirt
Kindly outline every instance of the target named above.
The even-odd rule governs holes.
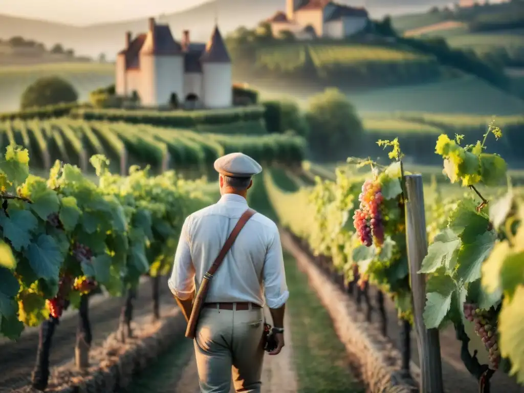
[[[267,307],[271,309],[282,307],[289,298],[289,291],[286,284],[280,234],[277,228],[275,228],[270,237],[264,262],[263,277]]]

